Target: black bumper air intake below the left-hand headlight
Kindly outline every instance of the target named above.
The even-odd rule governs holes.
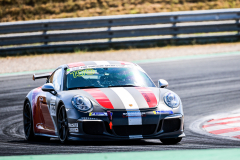
[[[83,126],[83,132],[85,132],[86,134],[92,134],[92,135],[103,134],[103,130],[104,130],[103,122],[87,121],[87,122],[83,122],[82,126]]]

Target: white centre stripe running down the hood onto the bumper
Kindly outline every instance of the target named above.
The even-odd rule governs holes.
[[[123,102],[123,105],[126,108],[128,115],[133,115],[128,116],[128,125],[142,125],[141,112],[139,111],[137,102],[132,97],[132,95],[122,87],[111,89],[118,95],[118,97]]]

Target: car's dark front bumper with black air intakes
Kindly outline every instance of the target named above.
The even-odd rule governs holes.
[[[182,114],[146,112],[141,125],[129,125],[123,112],[113,112],[112,128],[109,117],[92,116],[69,119],[69,140],[129,140],[184,137]]]

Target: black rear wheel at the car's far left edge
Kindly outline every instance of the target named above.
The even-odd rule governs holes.
[[[23,127],[24,127],[26,140],[28,141],[33,140],[34,132],[33,132],[32,110],[29,102],[27,102],[23,106]]]

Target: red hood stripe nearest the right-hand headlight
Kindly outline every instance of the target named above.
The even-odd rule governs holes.
[[[154,93],[152,92],[152,90],[150,90],[149,88],[145,88],[145,87],[135,87],[135,88],[142,94],[142,96],[148,103],[149,108],[156,107],[157,99],[156,99]]]

